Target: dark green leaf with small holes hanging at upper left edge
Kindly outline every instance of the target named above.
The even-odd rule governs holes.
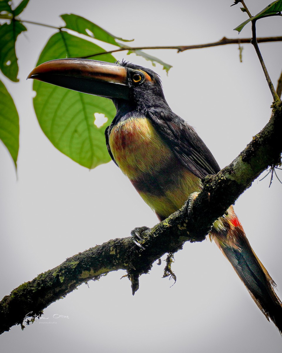
[[[0,26],[0,69],[13,82],[18,82],[18,58],[15,44],[20,33],[26,31],[19,21],[12,20],[10,24]]]

